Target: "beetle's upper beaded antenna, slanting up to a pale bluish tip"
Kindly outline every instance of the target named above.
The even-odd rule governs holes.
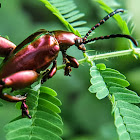
[[[93,26],[85,35],[85,37],[83,37],[83,40],[86,41],[87,37],[89,36],[89,34],[95,30],[97,27],[99,27],[100,25],[102,25],[103,23],[105,23],[105,21],[107,21],[110,17],[112,17],[113,15],[119,13],[119,12],[124,12],[123,9],[116,9],[115,11],[111,12],[110,14],[108,14],[107,16],[105,16],[99,23],[97,23],[95,26]]]

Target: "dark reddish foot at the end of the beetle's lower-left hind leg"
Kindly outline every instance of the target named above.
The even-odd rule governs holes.
[[[28,106],[26,105],[26,100],[22,101],[21,104],[21,110],[22,110],[22,116],[27,116],[29,119],[31,119],[32,117],[29,115],[29,110],[28,110]]]

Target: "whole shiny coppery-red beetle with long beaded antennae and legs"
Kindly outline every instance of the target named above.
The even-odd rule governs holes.
[[[88,42],[123,37],[130,39],[137,46],[137,41],[130,35],[125,34],[112,34],[87,40],[93,30],[119,12],[124,12],[124,10],[117,9],[105,16],[83,38],[67,31],[49,32],[41,29],[16,46],[9,40],[0,37],[0,56],[5,57],[0,66],[0,98],[11,102],[22,101],[22,115],[31,118],[26,105],[26,96],[12,96],[3,93],[5,87],[11,87],[13,90],[25,88],[34,83],[43,70],[45,72],[43,73],[42,83],[53,77],[57,70],[56,58],[60,51],[62,52],[63,63],[66,64],[64,75],[70,76],[71,67],[79,67],[78,61],[66,54],[67,49],[72,45],[85,52],[85,44]],[[51,64],[51,69],[47,69]]]

